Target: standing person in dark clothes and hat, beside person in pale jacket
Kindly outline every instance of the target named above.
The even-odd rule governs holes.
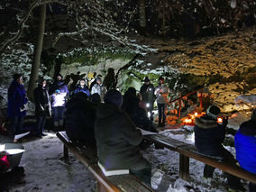
[[[148,112],[148,116],[153,121],[153,106],[155,101],[155,87],[151,84],[151,80],[148,77],[145,77],[144,84],[140,89],[140,94],[142,95],[142,101],[146,104],[146,110]]]

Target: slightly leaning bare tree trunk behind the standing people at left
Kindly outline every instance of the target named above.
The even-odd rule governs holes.
[[[36,87],[36,81],[38,79],[38,70],[41,64],[41,49],[42,49],[43,33],[44,33],[44,27],[45,27],[45,17],[46,17],[46,5],[41,5],[39,31],[38,31],[37,41],[36,41],[34,55],[33,55],[32,71],[31,71],[29,87],[28,87],[28,97],[32,101],[33,101],[33,90]]]

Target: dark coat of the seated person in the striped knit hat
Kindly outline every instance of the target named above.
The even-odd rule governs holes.
[[[216,120],[202,116],[195,121],[195,145],[197,151],[209,156],[222,156],[225,128]]]

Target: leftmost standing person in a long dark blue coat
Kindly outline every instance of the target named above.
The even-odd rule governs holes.
[[[23,86],[23,75],[14,74],[14,80],[8,88],[8,117],[11,120],[8,133],[13,137],[23,127],[23,117],[26,115],[28,99]],[[14,140],[14,142],[17,142]]]

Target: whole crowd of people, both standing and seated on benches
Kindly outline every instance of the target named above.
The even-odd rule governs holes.
[[[122,96],[114,86],[114,69],[108,70],[103,84],[101,77],[95,74],[90,85],[81,78],[71,91],[61,75],[49,87],[47,81],[41,79],[34,90],[36,135],[44,135],[46,117],[52,113],[55,131],[66,130],[73,142],[87,142],[95,146],[99,163],[105,169],[129,169],[130,173],[151,185],[151,164],[139,151],[143,138],[137,127],[156,132],[152,123],[155,100],[159,126],[164,126],[169,87],[162,77],[158,87],[154,87],[148,77],[143,81],[139,93],[134,87],[129,87]],[[8,89],[8,116],[11,120],[8,132],[12,136],[22,129],[27,102],[23,77],[15,74]],[[223,146],[228,118],[224,118],[221,124],[217,123],[220,112],[219,107],[210,105],[206,115],[196,119],[197,150],[218,160],[234,163],[238,160],[242,169],[256,174],[256,109],[251,114],[251,120],[242,123],[235,135],[236,159]],[[206,165],[204,177],[211,178],[214,171],[215,168]],[[231,189],[242,188],[239,178],[231,174],[226,174],[226,177]],[[251,183],[250,191],[253,190],[255,184]]]

